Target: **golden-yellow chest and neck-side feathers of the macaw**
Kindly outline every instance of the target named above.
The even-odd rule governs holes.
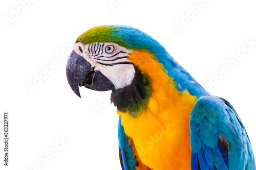
[[[153,168],[190,169],[189,115],[197,98],[179,92],[163,65],[147,52],[134,51],[129,59],[152,81],[152,96],[140,115],[121,115],[124,132],[141,161]]]

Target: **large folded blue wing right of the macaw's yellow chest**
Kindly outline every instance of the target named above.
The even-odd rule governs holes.
[[[192,162],[194,167],[198,162],[199,169],[256,169],[242,121],[226,100],[201,97],[191,111],[189,126],[191,169]]]

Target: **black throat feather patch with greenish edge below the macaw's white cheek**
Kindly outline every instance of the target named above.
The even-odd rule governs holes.
[[[146,74],[142,74],[136,66],[134,68],[135,75],[132,83],[124,88],[113,90],[110,100],[119,111],[139,114],[151,97],[152,85]]]

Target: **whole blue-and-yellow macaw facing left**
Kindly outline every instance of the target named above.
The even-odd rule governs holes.
[[[115,25],[84,32],[66,74],[79,97],[79,86],[112,90],[123,170],[256,169],[234,108],[207,92],[146,33]]]

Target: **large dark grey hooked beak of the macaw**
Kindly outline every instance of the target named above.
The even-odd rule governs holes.
[[[66,75],[71,89],[81,98],[79,87],[96,91],[115,90],[114,84],[100,71],[94,71],[92,65],[74,50],[69,56]]]

